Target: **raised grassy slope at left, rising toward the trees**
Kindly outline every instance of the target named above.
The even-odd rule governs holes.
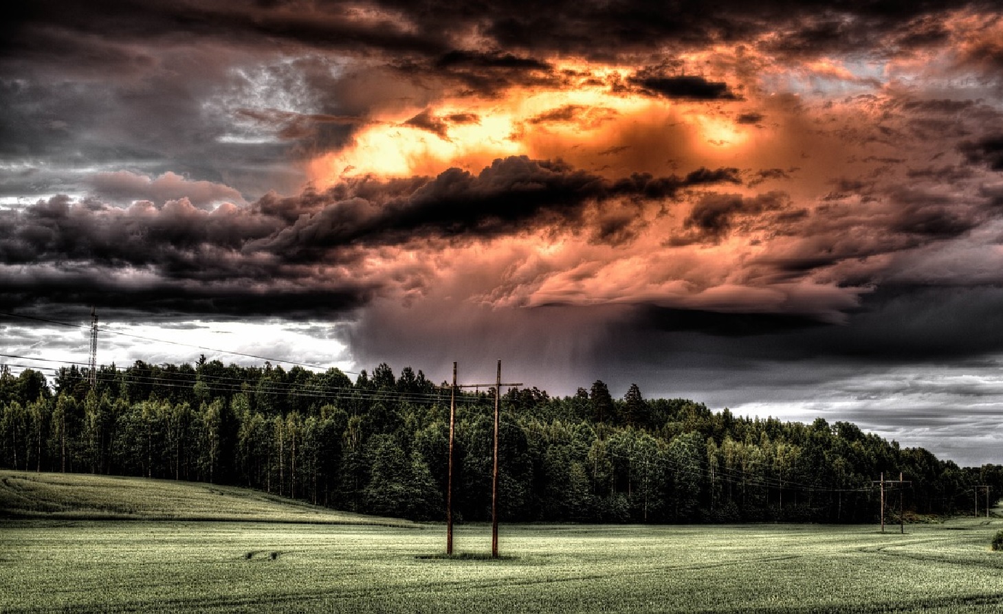
[[[0,471],[0,518],[247,521],[415,526],[232,486]]]

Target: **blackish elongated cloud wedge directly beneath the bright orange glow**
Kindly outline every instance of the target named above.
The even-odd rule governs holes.
[[[737,182],[736,175],[733,168],[700,168],[685,177],[634,174],[610,181],[560,161],[513,156],[494,160],[478,174],[450,168],[412,192],[382,199],[379,206],[359,197],[354,188],[371,188],[372,182],[352,184],[338,192],[342,200],[337,206],[300,216],[293,225],[255,243],[255,247],[286,257],[310,258],[317,249],[349,243],[397,244],[419,236],[490,237],[535,224],[575,224],[582,220],[585,207],[594,202],[617,197],[671,198],[690,186]],[[270,203],[269,207],[303,208],[298,197]]]

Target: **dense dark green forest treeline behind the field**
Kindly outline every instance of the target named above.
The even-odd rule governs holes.
[[[441,519],[448,390],[380,365],[352,382],[314,373],[136,362],[45,377],[0,373],[0,467],[197,480],[339,509]],[[490,513],[493,391],[458,397],[455,515]],[[975,485],[1003,492],[1003,467],[959,468],[856,426],[713,413],[691,401],[503,398],[499,511],[507,521],[876,522],[873,481],[900,472],[914,514],[971,513]],[[888,500],[897,509],[900,492]],[[985,505],[985,499],[981,505]],[[890,510],[891,513],[891,510]]]

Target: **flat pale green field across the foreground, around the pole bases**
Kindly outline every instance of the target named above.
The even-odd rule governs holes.
[[[1000,612],[1001,527],[6,520],[0,611]]]

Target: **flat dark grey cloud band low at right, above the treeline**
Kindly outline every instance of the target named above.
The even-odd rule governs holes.
[[[885,284],[862,295],[845,325],[798,315],[706,314],[639,308],[625,321],[624,346],[660,331],[698,333],[727,345],[734,356],[796,362],[812,358],[873,364],[964,360],[1003,352],[1003,289]],[[646,331],[648,333],[646,333]],[[670,347],[666,340],[652,341]],[[611,348],[613,351],[613,348]],[[624,348],[623,353],[627,350]]]

